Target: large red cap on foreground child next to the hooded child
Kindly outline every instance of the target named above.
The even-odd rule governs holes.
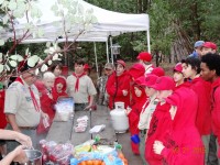
[[[173,90],[175,88],[175,82],[173,78],[168,76],[158,77],[155,85],[151,86],[156,90]]]

